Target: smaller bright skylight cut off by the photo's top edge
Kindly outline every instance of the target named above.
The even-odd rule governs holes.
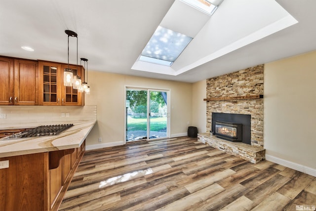
[[[223,0],[182,0],[198,10],[212,15]]]

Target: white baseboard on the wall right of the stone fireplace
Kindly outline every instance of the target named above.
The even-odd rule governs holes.
[[[266,154],[266,160],[271,161],[271,162],[276,163],[276,164],[279,164],[279,165],[282,165],[282,166],[285,166],[285,167],[288,167],[288,168],[291,168],[291,169],[294,169],[294,170],[301,171],[303,173],[310,174],[312,176],[316,176],[316,169],[312,169],[310,167],[306,167],[306,166],[303,166],[301,164],[293,163],[291,161],[283,160],[281,158],[277,158],[275,156],[267,155],[267,154]]]

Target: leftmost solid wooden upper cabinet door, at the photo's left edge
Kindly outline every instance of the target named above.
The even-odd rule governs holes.
[[[0,57],[0,105],[13,105],[13,59]]]

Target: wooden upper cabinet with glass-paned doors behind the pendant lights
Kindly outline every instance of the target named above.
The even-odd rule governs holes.
[[[67,64],[39,61],[40,105],[84,105],[84,94],[72,86],[64,86],[64,69]],[[74,76],[84,75],[82,66],[69,65]]]

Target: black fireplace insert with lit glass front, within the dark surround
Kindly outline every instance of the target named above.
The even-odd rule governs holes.
[[[231,122],[215,122],[215,134],[228,141],[242,141],[242,124]]]

